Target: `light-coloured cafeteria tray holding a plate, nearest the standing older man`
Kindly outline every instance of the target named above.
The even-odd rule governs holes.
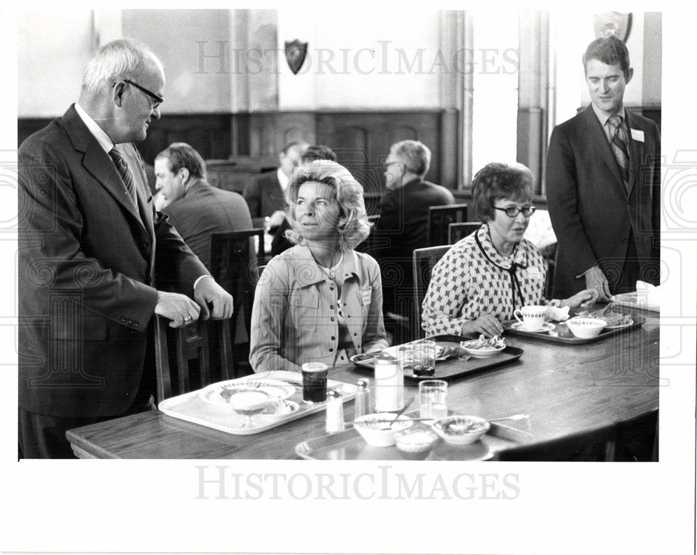
[[[247,380],[259,380],[260,378],[290,383],[296,391],[286,400],[293,405],[297,404],[298,409],[289,414],[282,415],[256,414],[252,416],[252,423],[254,424],[252,427],[238,428],[237,425],[244,420],[244,417],[227,406],[204,400],[204,398],[201,398],[201,389],[165,399],[160,402],[158,409],[164,414],[167,414],[167,416],[172,416],[173,418],[185,420],[194,424],[200,424],[207,428],[213,428],[214,430],[220,430],[221,432],[227,432],[233,435],[258,434],[259,432],[276,428],[279,425],[325,409],[325,402],[318,402],[312,405],[302,402],[302,375],[297,372],[275,370],[246,376],[234,381],[244,383]],[[336,380],[327,380],[327,387],[328,389],[336,389],[339,391],[344,400],[351,400],[355,397],[356,386],[353,384],[337,382]]]

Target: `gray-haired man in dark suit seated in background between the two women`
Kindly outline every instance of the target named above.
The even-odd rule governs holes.
[[[429,207],[454,204],[452,193],[424,180],[431,150],[419,141],[399,141],[385,160],[385,194],[375,233],[383,243],[377,253],[383,278],[385,327],[394,343],[411,341],[414,329],[414,249],[428,247]]]

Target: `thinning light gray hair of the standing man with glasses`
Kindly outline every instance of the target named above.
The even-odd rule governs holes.
[[[120,79],[140,81],[145,72],[146,56],[157,56],[144,42],[120,38],[107,42],[87,62],[82,74],[82,95],[93,97],[102,84]]]

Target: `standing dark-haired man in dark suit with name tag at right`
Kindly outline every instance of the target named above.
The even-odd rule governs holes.
[[[633,70],[622,40],[594,40],[583,66],[591,104],[554,128],[547,153],[553,295],[596,288],[609,300],[659,278],[661,139],[623,105]]]

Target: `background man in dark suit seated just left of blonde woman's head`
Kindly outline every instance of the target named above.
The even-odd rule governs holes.
[[[245,187],[243,196],[250,207],[252,218],[269,217],[269,225],[274,228],[282,224],[288,180],[300,164],[305,148],[307,143],[302,141],[288,143],[278,156],[279,166],[276,171],[262,173]]]

